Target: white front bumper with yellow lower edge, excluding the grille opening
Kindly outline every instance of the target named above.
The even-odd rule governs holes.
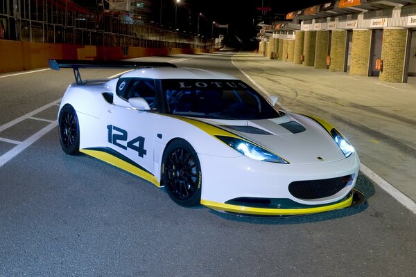
[[[202,166],[201,204],[218,211],[249,215],[322,213],[351,206],[357,194],[352,190],[360,165],[356,154],[329,163],[288,165],[254,161],[248,157],[199,157]],[[327,197],[300,199],[289,191],[289,184],[295,181],[345,175],[354,178],[338,193]]]

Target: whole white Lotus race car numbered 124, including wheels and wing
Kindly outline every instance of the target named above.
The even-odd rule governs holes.
[[[301,215],[351,206],[360,161],[336,128],[275,109],[231,75],[157,62],[49,60],[73,68],[60,104],[62,149],[164,186],[182,206]],[[80,68],[139,68],[87,80]]]

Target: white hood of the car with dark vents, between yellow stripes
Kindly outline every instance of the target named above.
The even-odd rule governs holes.
[[[345,159],[327,130],[306,116],[286,114],[261,120],[198,120],[257,143],[289,163],[325,163]]]

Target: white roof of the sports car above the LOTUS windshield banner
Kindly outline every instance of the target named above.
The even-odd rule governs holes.
[[[224,79],[239,80],[238,78],[216,71],[205,69],[193,69],[188,67],[171,68],[155,67],[146,69],[135,69],[124,73],[121,78],[150,78],[150,79]]]

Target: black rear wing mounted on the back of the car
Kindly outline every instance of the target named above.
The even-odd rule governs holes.
[[[137,69],[144,67],[176,67],[168,62],[130,62],[130,61],[95,61],[95,60],[48,60],[49,67],[53,70],[73,69],[73,75],[77,84],[83,84],[79,69],[113,68],[113,69]]]

